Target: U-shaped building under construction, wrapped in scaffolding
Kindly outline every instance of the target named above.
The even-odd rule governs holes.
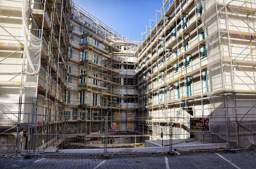
[[[254,147],[255,12],[255,0],[164,0],[131,39],[73,1],[1,0],[1,153],[171,136]]]

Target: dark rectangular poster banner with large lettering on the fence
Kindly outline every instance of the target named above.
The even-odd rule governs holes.
[[[210,132],[209,118],[190,118],[190,132]]]

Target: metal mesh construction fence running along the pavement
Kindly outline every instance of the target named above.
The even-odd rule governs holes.
[[[16,141],[19,142],[18,154],[119,154],[237,149],[252,148],[256,140],[254,116],[205,116],[190,119],[143,118],[125,113],[118,116],[88,114],[90,112],[47,116],[24,113],[28,120],[20,124],[22,132],[14,126],[9,132],[2,132],[1,137],[10,140],[20,135],[20,140],[13,139],[8,143],[15,150]],[[18,113],[14,116],[18,116]],[[70,120],[71,117],[73,120]]]

